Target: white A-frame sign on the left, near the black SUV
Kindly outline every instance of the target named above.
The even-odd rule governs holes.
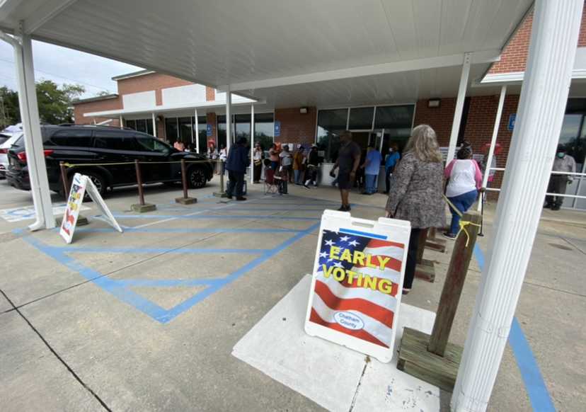
[[[120,225],[116,222],[112,213],[110,213],[110,210],[102,199],[96,185],[93,184],[88,176],[75,173],[73,181],[71,181],[71,190],[69,190],[69,198],[67,198],[67,205],[63,214],[63,221],[61,222],[61,229],[59,229],[59,234],[65,239],[67,244],[70,244],[73,240],[77,219],[79,217],[79,210],[81,209],[81,204],[84,202],[86,191],[91,200],[96,203],[96,206],[98,206],[98,209],[100,209],[106,221],[114,229],[122,233],[122,228],[120,228]]]

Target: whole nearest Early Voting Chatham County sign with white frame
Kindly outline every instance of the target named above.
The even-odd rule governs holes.
[[[321,218],[305,331],[390,362],[410,223],[356,219],[326,210]]]

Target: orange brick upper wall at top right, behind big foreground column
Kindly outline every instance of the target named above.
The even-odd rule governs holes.
[[[531,25],[533,23],[533,13],[529,13],[527,18],[519,26],[517,33],[513,35],[511,41],[502,51],[500,62],[496,62],[490,67],[489,74],[509,73],[511,71],[524,71],[527,55],[529,55],[529,40],[531,39]],[[578,47],[586,46],[586,8],[582,11],[582,26],[580,27],[580,36],[578,38]]]

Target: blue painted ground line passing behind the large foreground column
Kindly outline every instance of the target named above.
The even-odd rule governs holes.
[[[481,270],[484,270],[484,253],[478,244],[474,246],[474,257]],[[549,396],[544,378],[541,376],[539,365],[537,365],[531,347],[516,317],[512,321],[509,344],[515,355],[515,360],[521,372],[521,377],[533,410],[539,412],[556,411],[556,408],[553,406],[553,401],[551,401],[551,396]]]

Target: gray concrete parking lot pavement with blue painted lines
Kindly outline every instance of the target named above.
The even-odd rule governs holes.
[[[148,188],[147,202],[157,205],[148,214],[130,211],[135,189],[117,190],[106,202],[125,232],[86,203],[90,224],[66,245],[57,231],[28,232],[32,220],[21,209],[30,194],[0,181],[0,208],[8,210],[0,212],[2,411],[322,410],[231,350],[311,273],[319,218],[338,207],[337,193],[290,188],[275,197],[249,185],[248,201],[226,202],[214,190],[212,181],[191,191],[197,204],[182,206],[173,202],[178,188]],[[384,195],[351,200],[353,215],[384,212]],[[454,343],[466,338],[491,221],[489,207]],[[437,262],[436,282],[417,281],[404,301],[435,311],[449,253],[425,257]],[[548,401],[583,409],[585,266],[585,214],[544,213],[491,411]]]

